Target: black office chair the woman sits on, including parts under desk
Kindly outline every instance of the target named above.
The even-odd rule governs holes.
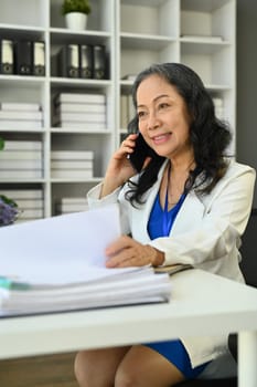
[[[240,269],[244,273],[246,283],[257,287],[257,254],[256,254],[256,237],[257,237],[257,209],[253,209],[246,231],[242,238],[242,257]],[[228,348],[237,362],[237,334],[228,335]],[[175,386],[178,387],[237,387],[237,377],[221,379],[193,379],[184,380]]]

